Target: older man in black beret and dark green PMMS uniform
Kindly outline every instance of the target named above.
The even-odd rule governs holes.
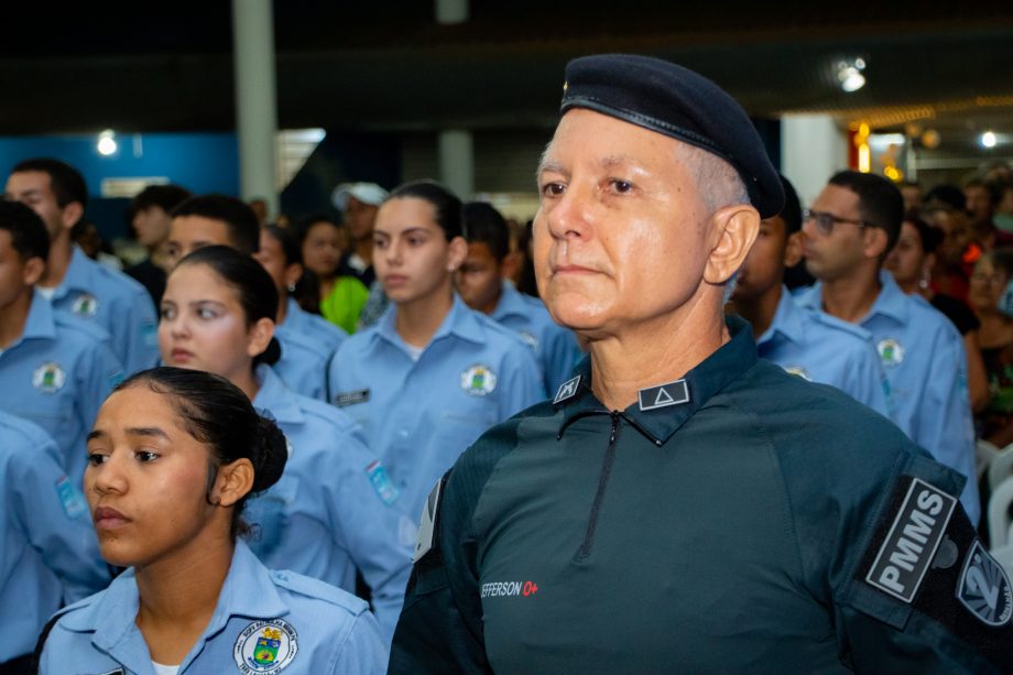
[[[1013,668],[963,479],[758,360],[722,301],[781,182],[669,63],[569,64],[538,168],[538,287],[590,357],[434,489],[391,673]]]

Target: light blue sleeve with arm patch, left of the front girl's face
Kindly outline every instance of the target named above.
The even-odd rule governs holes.
[[[15,455],[7,489],[13,492],[14,518],[25,538],[59,579],[70,603],[105,588],[109,569],[99,555],[84,494],[57,464],[55,444],[44,443]]]

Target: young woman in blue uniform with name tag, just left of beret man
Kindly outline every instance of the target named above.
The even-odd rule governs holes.
[[[457,197],[428,182],[391,193],[373,265],[392,307],[330,363],[331,401],[366,426],[414,513],[479,434],[544,396],[532,350],[454,293],[467,252]]]

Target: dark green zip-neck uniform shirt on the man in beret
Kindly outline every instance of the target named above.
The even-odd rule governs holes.
[[[391,673],[1013,668],[962,477],[729,327],[622,412],[585,362],[461,456]]]

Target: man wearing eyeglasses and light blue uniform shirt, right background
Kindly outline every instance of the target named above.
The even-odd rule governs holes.
[[[898,426],[968,478],[960,501],[977,523],[981,505],[962,340],[943,314],[906,295],[881,270],[903,216],[903,197],[886,178],[856,171],[834,175],[804,214],[806,268],[819,281],[797,300],[872,334]]]

